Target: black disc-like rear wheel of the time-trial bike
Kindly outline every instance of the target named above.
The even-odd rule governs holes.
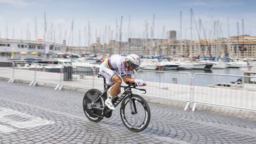
[[[103,119],[104,108],[105,108],[105,96],[101,96],[97,99],[102,92],[97,89],[90,89],[85,93],[84,99],[82,101],[83,111],[85,116],[93,122],[99,122]],[[97,99],[97,101],[95,101]],[[94,104],[92,105],[92,102]]]

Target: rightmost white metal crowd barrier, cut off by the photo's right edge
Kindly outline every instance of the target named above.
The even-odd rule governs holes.
[[[215,83],[213,83],[213,79]],[[250,82],[250,79],[256,79],[256,77],[231,74],[194,74],[192,111],[196,109],[196,104],[256,111],[256,82]],[[206,86],[196,86],[200,83],[204,83]]]

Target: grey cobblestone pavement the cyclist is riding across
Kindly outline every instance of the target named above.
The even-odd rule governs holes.
[[[256,121],[149,104],[141,133],[122,123],[119,109],[99,123],[82,111],[82,92],[0,81],[0,143],[256,143]]]

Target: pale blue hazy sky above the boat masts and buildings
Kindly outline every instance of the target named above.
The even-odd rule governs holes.
[[[244,34],[256,35],[255,7],[255,0],[0,0],[0,38],[43,38],[46,12],[46,40],[57,43],[65,39],[72,45],[87,45],[89,22],[90,43],[96,37],[103,42],[111,38],[119,40],[121,17],[123,41],[128,36],[145,38],[146,23],[147,35],[151,38],[153,16],[154,38],[166,38],[166,31],[175,30],[178,39],[191,39],[191,9],[194,16],[193,39],[199,36],[216,38],[238,33],[242,35],[242,19]],[[200,33],[199,19],[204,28],[201,27]],[[215,28],[214,21],[218,21]]]

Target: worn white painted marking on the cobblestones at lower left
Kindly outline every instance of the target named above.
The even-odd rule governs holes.
[[[8,118],[8,116],[15,116],[18,118],[23,118],[26,121],[16,121],[14,119]],[[4,126],[1,125],[1,123],[4,123]],[[13,109],[6,109],[4,107],[0,107],[0,131],[3,133],[9,133],[9,132],[14,132],[16,129],[10,128],[10,127],[15,127],[15,128],[35,128],[37,126],[46,126],[48,124],[53,124],[55,122],[53,121],[48,121],[46,119],[36,117],[36,116],[31,116],[26,113],[21,113],[20,111],[15,111]]]

